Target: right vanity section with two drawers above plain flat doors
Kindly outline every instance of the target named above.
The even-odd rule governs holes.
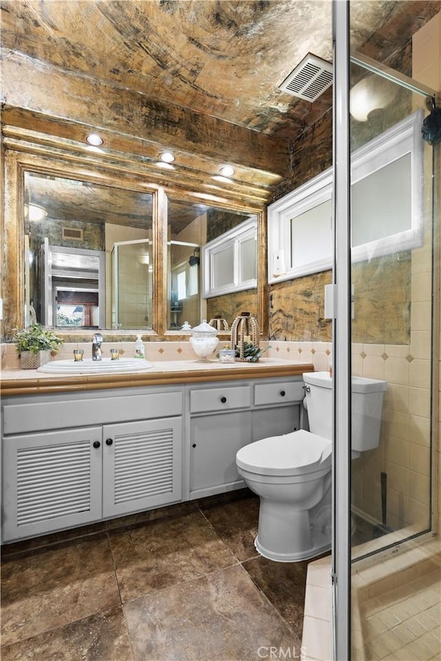
[[[299,428],[302,385],[292,377],[190,390],[190,499],[245,487],[236,468],[238,450]]]

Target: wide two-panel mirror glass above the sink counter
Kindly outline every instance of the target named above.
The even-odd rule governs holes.
[[[218,315],[230,326],[243,310],[258,314],[257,216],[167,199],[167,300],[154,305],[154,193],[85,179],[24,171],[24,318],[59,330],[181,330]],[[163,198],[165,201],[165,198]],[[160,212],[161,213],[161,212]],[[202,250],[243,222],[254,235],[242,246],[247,288],[203,297]],[[160,232],[161,234],[161,232]],[[160,255],[161,256],[161,255]],[[159,273],[161,270],[159,269]],[[245,277],[244,275],[244,277]],[[217,293],[216,293],[217,294]],[[161,296],[162,298],[162,296]]]

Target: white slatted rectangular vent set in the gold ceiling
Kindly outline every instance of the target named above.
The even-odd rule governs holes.
[[[332,63],[308,53],[279,85],[279,90],[312,103],[331,85]]]

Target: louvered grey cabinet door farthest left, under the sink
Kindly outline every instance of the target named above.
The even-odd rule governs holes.
[[[101,518],[101,434],[92,427],[3,439],[3,541]]]

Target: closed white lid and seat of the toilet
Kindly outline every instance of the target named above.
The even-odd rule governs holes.
[[[240,448],[236,463],[252,473],[293,475],[318,470],[331,454],[331,441],[305,430],[273,436]]]

